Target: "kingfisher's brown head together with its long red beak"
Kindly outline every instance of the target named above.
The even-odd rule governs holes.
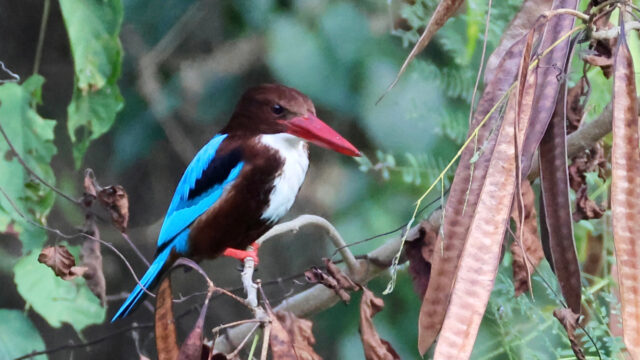
[[[313,102],[306,95],[279,84],[248,89],[222,132],[247,135],[288,133],[345,155],[360,156],[358,149],[318,119]]]

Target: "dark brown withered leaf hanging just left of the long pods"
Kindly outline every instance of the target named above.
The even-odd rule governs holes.
[[[404,253],[409,259],[409,274],[413,280],[413,288],[420,297],[424,296],[429,285],[433,247],[439,229],[439,226],[434,226],[426,219],[420,224],[418,237],[407,241],[404,246]]]

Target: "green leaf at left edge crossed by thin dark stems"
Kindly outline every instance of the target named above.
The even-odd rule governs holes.
[[[40,103],[43,83],[44,78],[34,75],[22,85],[7,83],[0,86],[0,124],[25,163],[45,181],[53,184],[55,176],[50,162],[56,153],[53,144],[56,122],[40,117],[34,109]],[[0,139],[0,187],[22,214],[44,223],[53,206],[55,194],[31,178],[11,153],[4,138]],[[20,234],[23,253],[41,247],[46,240],[44,231],[24,231],[26,226],[32,226],[26,225],[11,202],[0,195],[0,231],[5,231],[12,222]]]

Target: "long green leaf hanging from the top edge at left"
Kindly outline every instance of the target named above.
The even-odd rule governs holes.
[[[117,85],[122,65],[118,35],[123,9],[120,0],[60,0],[60,9],[76,75],[67,128],[73,158],[80,167],[91,141],[111,128],[123,106]]]

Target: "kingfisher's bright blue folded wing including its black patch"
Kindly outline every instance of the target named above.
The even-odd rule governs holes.
[[[198,151],[182,175],[160,229],[158,251],[171,244],[177,252],[186,253],[186,237],[182,239],[177,235],[215,204],[238,177],[244,165],[242,150],[235,148],[217,154],[226,137],[226,134],[221,134],[211,139]],[[173,239],[180,239],[180,243],[172,244]]]

